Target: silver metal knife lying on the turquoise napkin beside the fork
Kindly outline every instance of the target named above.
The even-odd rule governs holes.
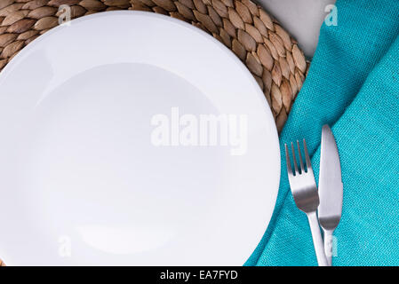
[[[343,184],[338,147],[330,127],[323,125],[320,155],[318,208],[319,223],[324,232],[324,252],[331,265],[332,233],[342,214]]]

